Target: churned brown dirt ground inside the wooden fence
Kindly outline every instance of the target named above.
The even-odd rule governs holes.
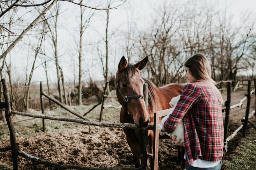
[[[231,105],[236,104],[244,97],[246,91],[233,92]],[[223,99],[226,100],[226,94]],[[230,112],[229,133],[233,133],[245,115],[246,101],[242,108]],[[251,109],[255,108],[255,95],[252,95]],[[223,113],[225,116],[225,113]],[[224,118],[223,118],[224,120]],[[255,117],[250,119],[256,125]],[[255,135],[255,130],[248,125],[249,135]],[[236,141],[241,136],[228,144],[227,159],[232,159],[229,153],[236,148]],[[59,164],[81,165],[88,167],[134,167],[131,150],[126,143],[123,130],[120,128],[104,128],[97,126],[77,125],[77,128],[57,132],[46,132],[37,135],[18,137],[20,149],[41,159]],[[1,139],[0,148],[10,145],[9,138]],[[11,152],[0,152],[0,161],[12,169]],[[25,158],[18,157],[20,170],[54,170],[44,165],[35,165]],[[177,148],[170,140],[159,142],[159,167],[161,170],[182,170],[177,165]]]

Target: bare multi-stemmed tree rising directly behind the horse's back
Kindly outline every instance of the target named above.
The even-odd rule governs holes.
[[[148,29],[149,32],[139,32],[138,42],[141,46],[140,53],[148,56],[147,67],[151,73],[151,79],[157,86],[161,86],[173,79],[174,75],[170,75],[171,68],[177,69],[176,73],[181,70],[180,65],[176,68],[173,66],[174,61],[180,61],[179,57],[182,52],[182,48],[178,46],[179,41],[177,41],[182,14],[178,13],[178,5],[171,7],[167,5],[167,2],[158,9],[155,15],[157,17]]]

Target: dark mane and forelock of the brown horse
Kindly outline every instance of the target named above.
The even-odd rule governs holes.
[[[136,67],[128,63],[127,67],[125,68],[125,75],[128,82],[131,80],[131,77],[133,77],[135,72],[136,72]],[[156,93],[154,89],[157,87],[150,80],[147,80],[145,78],[143,78],[143,80],[145,81],[145,83],[148,84],[148,104],[149,104],[149,108],[153,110],[153,107],[154,107],[153,103],[156,100]]]

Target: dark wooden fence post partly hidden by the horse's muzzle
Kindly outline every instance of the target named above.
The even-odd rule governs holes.
[[[143,85],[143,95],[146,104],[146,109],[148,111],[148,84]],[[147,147],[148,147],[148,128],[139,128],[139,145],[141,153],[141,169],[150,170],[150,158],[148,157]]]

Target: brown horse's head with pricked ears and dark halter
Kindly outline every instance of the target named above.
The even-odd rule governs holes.
[[[127,108],[138,128],[146,127],[149,123],[149,115],[143,100],[144,80],[140,75],[140,70],[146,66],[147,62],[148,57],[145,57],[132,65],[123,56],[116,73],[118,101]]]

